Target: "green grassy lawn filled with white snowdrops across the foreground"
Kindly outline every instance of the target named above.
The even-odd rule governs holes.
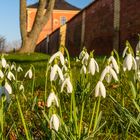
[[[116,52],[112,57],[117,64],[112,57],[88,56],[86,50],[80,60],[70,60],[66,54],[65,60],[60,52],[51,59],[39,53],[6,54],[10,67],[4,67],[2,55],[1,139],[139,139],[137,70],[125,65],[124,71],[122,57]],[[23,71],[18,71],[19,66]],[[15,79],[9,79],[9,71]]]

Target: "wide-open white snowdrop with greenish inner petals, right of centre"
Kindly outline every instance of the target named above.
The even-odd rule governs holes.
[[[101,78],[100,81],[103,81],[104,78],[106,79],[106,81],[108,83],[111,82],[112,77],[114,78],[115,81],[118,81],[118,77],[116,72],[112,69],[111,66],[106,66],[106,68],[103,70],[102,74],[101,74]]]

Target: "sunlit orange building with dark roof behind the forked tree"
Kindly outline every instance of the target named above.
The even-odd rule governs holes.
[[[27,18],[28,18],[27,31],[28,32],[30,32],[32,28],[37,7],[38,7],[38,3],[35,3],[33,5],[29,5],[27,8]],[[56,0],[54,5],[54,10],[50,17],[50,20],[42,30],[37,44],[41,42],[46,36],[51,34],[54,30],[56,30],[61,25],[69,21],[74,15],[76,15],[79,12],[79,10],[80,10],[79,8],[71,5],[65,0]]]

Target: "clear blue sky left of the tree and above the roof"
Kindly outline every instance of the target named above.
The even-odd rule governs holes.
[[[36,0],[28,0],[28,4]],[[67,2],[83,8],[92,0],[66,0]],[[0,35],[8,42],[20,39],[19,31],[19,0],[1,0],[0,4]]]

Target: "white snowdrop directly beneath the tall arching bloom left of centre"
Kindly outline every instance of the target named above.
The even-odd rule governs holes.
[[[55,80],[55,76],[58,73],[60,79],[63,81],[64,77],[63,77],[63,73],[62,70],[60,69],[60,67],[55,64],[52,68],[51,68],[51,73],[50,73],[50,81],[54,81]]]

